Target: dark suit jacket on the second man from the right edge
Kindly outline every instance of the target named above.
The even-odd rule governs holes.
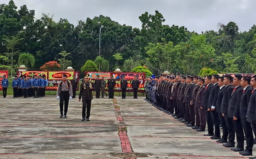
[[[239,112],[239,116],[241,119],[246,119],[248,105],[250,103],[251,91],[252,91],[252,88],[249,85],[248,87],[246,87],[245,92],[243,93],[243,95],[241,97],[240,112]]]

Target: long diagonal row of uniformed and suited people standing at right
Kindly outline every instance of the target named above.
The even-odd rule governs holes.
[[[147,78],[146,100],[241,155],[252,155],[256,134],[256,76],[177,74]],[[222,125],[222,137],[220,136]],[[244,149],[244,136],[247,146]],[[255,159],[256,157],[252,157]]]

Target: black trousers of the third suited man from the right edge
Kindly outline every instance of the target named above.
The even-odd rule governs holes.
[[[244,148],[244,131],[242,129],[242,121],[240,118],[237,118],[237,120],[232,121],[237,135],[237,147]]]

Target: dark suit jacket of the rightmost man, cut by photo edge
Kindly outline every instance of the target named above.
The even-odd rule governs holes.
[[[256,122],[256,90],[253,91],[250,97],[250,103],[248,105],[248,110],[247,110],[247,121],[249,123],[255,124]]]

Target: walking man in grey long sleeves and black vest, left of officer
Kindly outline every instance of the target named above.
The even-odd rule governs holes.
[[[64,118],[67,117],[68,112],[68,103],[69,100],[72,99],[73,92],[72,92],[72,84],[67,81],[67,75],[62,75],[62,81],[58,84],[57,89],[57,99],[60,99],[60,111],[61,115],[60,118],[63,117],[63,105],[64,105]]]

